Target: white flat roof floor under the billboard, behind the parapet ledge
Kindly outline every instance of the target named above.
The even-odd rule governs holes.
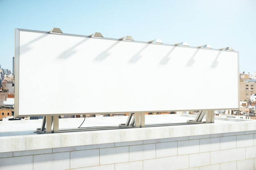
[[[186,124],[187,120],[194,120],[196,115],[181,115],[181,114],[171,114],[171,115],[145,115],[146,127],[152,126],[182,126]],[[119,124],[126,123],[127,116],[114,116],[114,117],[86,117],[84,118],[65,118],[59,119],[59,130],[72,131],[88,131],[88,130],[104,130],[112,128],[117,128]],[[0,121],[0,137],[4,136],[18,136],[18,135],[37,135],[34,131],[36,128],[40,128],[43,119],[33,119],[33,120],[16,120],[16,121]],[[204,119],[203,119],[204,121]],[[215,118],[214,124],[227,124],[234,123],[235,119],[219,119]],[[246,120],[244,120],[246,121]],[[249,121],[249,120],[247,120]],[[82,124],[83,122],[83,124]],[[78,128],[81,125],[80,128]],[[104,128],[103,128],[104,127]],[[108,128],[109,127],[109,128]]]

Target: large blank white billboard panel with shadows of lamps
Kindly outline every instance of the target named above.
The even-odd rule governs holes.
[[[15,62],[19,116],[239,106],[236,51],[16,29]]]

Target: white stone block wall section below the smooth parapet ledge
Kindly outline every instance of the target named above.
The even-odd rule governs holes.
[[[256,130],[2,152],[0,169],[255,170]]]

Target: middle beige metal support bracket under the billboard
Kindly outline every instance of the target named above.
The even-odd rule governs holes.
[[[130,113],[125,124],[119,124],[119,127],[125,128],[143,128],[145,127],[144,113]]]

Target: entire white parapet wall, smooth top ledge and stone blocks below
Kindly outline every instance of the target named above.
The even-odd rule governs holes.
[[[0,137],[4,170],[254,170],[256,121]]]

